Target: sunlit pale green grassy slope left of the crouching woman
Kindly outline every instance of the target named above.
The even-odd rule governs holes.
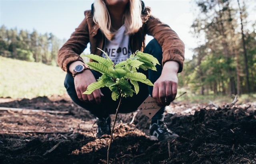
[[[63,95],[65,75],[60,67],[0,56],[0,97]]]

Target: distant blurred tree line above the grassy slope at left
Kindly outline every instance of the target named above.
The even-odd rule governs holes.
[[[57,65],[56,58],[64,40],[52,33],[38,34],[36,30],[29,33],[16,28],[0,28],[0,55],[25,61],[36,61],[47,65]]]

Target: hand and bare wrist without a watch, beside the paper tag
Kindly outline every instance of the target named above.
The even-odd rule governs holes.
[[[160,77],[154,83],[152,97],[159,106],[170,105],[175,99],[178,89],[178,68],[177,62],[167,61]]]

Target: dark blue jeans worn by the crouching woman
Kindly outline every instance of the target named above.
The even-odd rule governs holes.
[[[144,49],[144,53],[149,53],[156,57],[159,61],[159,63],[162,63],[162,48],[159,45],[159,43],[153,39],[151,40],[148,45]],[[138,71],[141,73],[144,73],[148,79],[152,83],[154,83],[161,75],[162,72],[162,65],[156,65],[157,71],[152,71],[151,69],[148,69],[147,71],[144,71],[142,69],[139,69]],[[91,70],[94,77],[98,79],[101,76],[101,73],[98,73],[94,70]],[[148,95],[152,95],[153,87],[148,86],[144,83],[139,83],[140,91],[138,95],[134,93],[133,97],[127,97],[122,100],[122,104],[119,109],[119,113],[130,113],[133,111],[136,111],[137,108],[140,106],[140,104],[148,97]],[[106,118],[110,114],[116,113],[116,108],[118,106],[119,100],[113,101],[111,98],[111,91],[107,87],[101,88],[101,91],[104,95],[102,99],[102,103],[100,105],[92,104],[92,103],[86,103],[83,101],[80,101],[76,95],[76,90],[74,87],[74,79],[72,75],[67,74],[66,79],[64,82],[64,86],[67,89],[68,95],[71,97],[71,99],[79,105],[80,107],[90,111],[93,115],[95,115],[98,118]],[[162,119],[162,114],[164,113],[164,107],[156,113],[156,115],[152,119]]]

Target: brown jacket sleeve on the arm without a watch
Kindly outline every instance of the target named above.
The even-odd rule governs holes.
[[[183,69],[185,46],[176,32],[153,16],[148,17],[145,26],[147,34],[153,36],[162,47],[162,66],[166,61],[176,61],[180,65],[180,73]]]

